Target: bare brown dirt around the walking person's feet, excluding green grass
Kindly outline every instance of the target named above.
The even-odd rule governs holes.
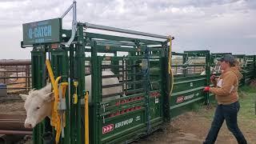
[[[196,112],[188,112],[182,114],[169,124],[166,130],[158,130],[150,137],[142,139],[140,144],[198,144],[202,143],[206,138],[206,134],[210,129],[211,120]],[[247,129],[240,125],[240,129],[246,137],[248,143],[256,143],[256,130]],[[226,128],[223,123],[222,129],[218,134],[216,144],[237,144],[234,136]]]

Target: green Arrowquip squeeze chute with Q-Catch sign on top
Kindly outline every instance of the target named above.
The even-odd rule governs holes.
[[[63,30],[62,18],[71,9],[72,30]],[[75,9],[76,2],[62,18],[23,24],[22,47],[33,47],[32,85],[35,90],[30,92],[28,98],[38,98],[36,102],[43,105],[52,94],[53,83],[57,82],[58,105],[63,105],[63,102],[65,105],[59,106],[62,109],[57,108],[58,111],[64,110],[62,122],[65,122],[65,127],[62,127],[62,134],[56,142],[87,141],[84,136],[86,122],[83,101],[86,91],[89,91],[90,143],[132,142],[157,130],[162,122],[170,119],[170,111],[163,107],[169,106],[170,101],[170,87],[167,87],[171,78],[167,72],[170,66],[168,42],[173,38],[77,22]],[[105,32],[90,33],[88,29]],[[130,34],[130,37],[110,35],[109,31]],[[45,87],[50,82],[47,59],[56,80],[50,84],[50,91]],[[65,90],[62,90],[62,83],[67,83]],[[54,99],[56,97],[50,98],[52,102]],[[26,103],[30,107],[28,105]],[[29,114],[30,108],[27,109]],[[36,106],[36,109],[42,107]],[[36,109],[34,114],[37,114]],[[36,126],[25,124],[34,127],[34,143],[54,142],[58,130],[55,131],[50,125],[53,119],[50,118],[36,122]]]

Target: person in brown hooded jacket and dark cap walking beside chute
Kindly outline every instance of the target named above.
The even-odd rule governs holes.
[[[238,128],[238,82],[242,78],[238,66],[235,66],[235,59],[232,55],[226,54],[218,59],[221,62],[222,74],[219,78],[214,75],[210,77],[214,87],[206,86],[204,91],[215,94],[218,106],[215,110],[214,121],[211,124],[204,144],[213,144],[218,136],[222,123],[226,120],[226,126],[234,134],[239,144],[247,144],[246,138]]]

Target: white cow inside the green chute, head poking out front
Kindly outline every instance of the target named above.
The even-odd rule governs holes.
[[[114,75],[111,71],[102,71],[102,75]],[[91,102],[91,75],[86,76],[86,90],[89,91],[89,102]],[[102,86],[118,84],[118,78],[103,78]],[[54,94],[51,92],[51,84],[46,85],[40,90],[31,90],[28,95],[21,94],[25,100],[26,120],[24,126],[26,128],[34,128],[44,118],[51,115],[51,102],[54,100]],[[122,92],[122,86],[105,88],[102,95],[116,94]],[[102,101],[120,98],[120,96],[103,98]]]

